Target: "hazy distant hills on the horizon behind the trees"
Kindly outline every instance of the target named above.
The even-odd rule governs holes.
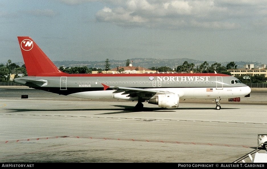
[[[126,60],[109,60],[110,61],[110,69],[116,68],[117,66],[125,66]],[[177,66],[182,65],[185,61],[187,61],[189,64],[194,63],[195,65],[200,65],[204,63],[204,61],[194,60],[194,59],[187,59],[187,58],[181,58],[181,59],[154,59],[154,58],[134,58],[130,59],[132,62],[132,65],[135,67],[145,67],[145,68],[151,68],[151,67],[170,67],[172,69],[177,68]],[[209,65],[212,65],[213,63],[216,63],[216,61],[207,61]],[[228,63],[232,61],[227,62],[219,62],[222,66],[226,66]],[[262,63],[258,62],[244,62],[244,61],[234,61],[237,65],[237,68],[243,68],[246,64],[254,64],[254,67],[261,67]],[[104,61],[54,61],[55,65],[57,67],[81,67],[81,66],[87,66],[88,68],[105,68],[105,60]],[[23,63],[16,63],[17,65],[21,66]]]

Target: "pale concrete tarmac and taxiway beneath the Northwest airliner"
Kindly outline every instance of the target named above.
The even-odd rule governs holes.
[[[212,100],[136,103],[0,86],[0,162],[231,163],[267,134],[264,94],[222,100],[221,110]]]

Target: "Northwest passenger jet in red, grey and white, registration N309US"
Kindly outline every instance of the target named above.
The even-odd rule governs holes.
[[[67,74],[60,71],[30,37],[18,37],[28,76],[15,83],[66,96],[120,99],[178,108],[180,99],[212,99],[220,110],[221,99],[242,97],[250,88],[237,78],[218,73]]]

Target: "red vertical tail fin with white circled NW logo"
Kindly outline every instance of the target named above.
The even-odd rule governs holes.
[[[30,37],[18,37],[28,76],[64,76]]]

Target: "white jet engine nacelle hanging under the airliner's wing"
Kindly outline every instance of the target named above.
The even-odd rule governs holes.
[[[148,100],[150,104],[157,104],[163,108],[177,108],[179,106],[178,94],[159,94]]]

